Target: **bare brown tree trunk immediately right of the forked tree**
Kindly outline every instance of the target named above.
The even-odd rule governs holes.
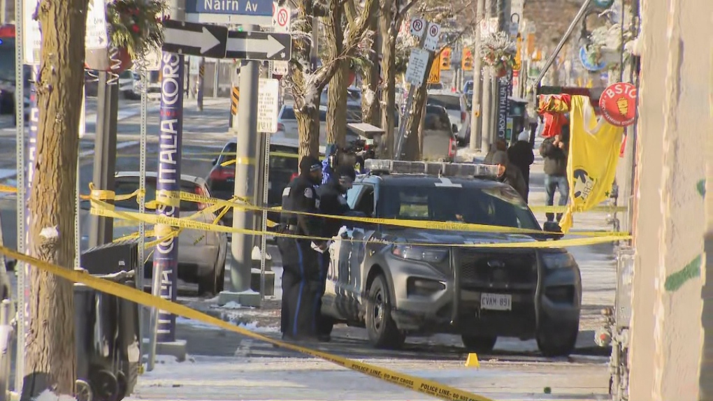
[[[327,143],[344,147],[347,137],[347,86],[349,60],[340,60],[327,89]]]

